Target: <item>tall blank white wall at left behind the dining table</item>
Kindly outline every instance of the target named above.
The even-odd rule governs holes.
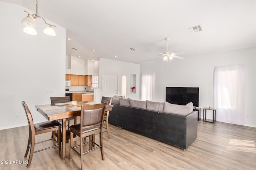
[[[22,101],[28,104],[34,122],[47,121],[34,106],[50,104],[51,96],[65,95],[66,30],[47,20],[57,26],[57,36],[46,35],[46,25],[37,19],[38,35],[28,35],[20,23],[26,17],[24,10],[35,13],[0,1],[0,129],[28,125]]]

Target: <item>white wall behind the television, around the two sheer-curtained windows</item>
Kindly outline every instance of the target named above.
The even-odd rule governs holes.
[[[154,101],[165,101],[167,86],[199,87],[199,107],[213,106],[213,76],[215,66],[245,64],[246,99],[245,125],[256,127],[254,101],[256,96],[256,47],[220,53],[191,56],[184,60],[172,59],[140,65],[140,73],[155,72]],[[165,74],[166,64],[166,75]]]

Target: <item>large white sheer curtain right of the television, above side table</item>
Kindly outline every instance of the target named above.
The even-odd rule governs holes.
[[[216,120],[244,125],[244,65],[215,67],[213,88]]]

